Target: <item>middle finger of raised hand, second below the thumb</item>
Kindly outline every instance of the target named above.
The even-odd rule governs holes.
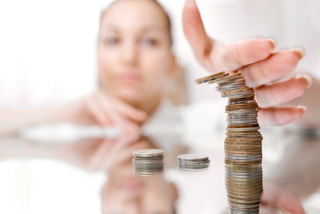
[[[298,51],[297,51],[298,50]],[[251,87],[258,87],[292,72],[303,57],[302,49],[283,50],[242,68],[240,71]]]

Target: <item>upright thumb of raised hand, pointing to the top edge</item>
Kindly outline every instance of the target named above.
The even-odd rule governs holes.
[[[200,12],[194,0],[186,0],[182,12],[182,25],[195,56],[199,61],[203,61],[210,54],[213,40],[204,30]]]

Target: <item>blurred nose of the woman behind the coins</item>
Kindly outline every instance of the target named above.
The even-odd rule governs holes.
[[[121,49],[121,58],[125,65],[134,66],[138,63],[138,45],[134,40],[127,41]]]

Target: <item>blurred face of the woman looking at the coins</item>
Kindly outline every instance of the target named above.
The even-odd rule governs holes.
[[[118,0],[102,15],[98,67],[103,89],[132,104],[161,96],[173,56],[169,23],[153,1]]]

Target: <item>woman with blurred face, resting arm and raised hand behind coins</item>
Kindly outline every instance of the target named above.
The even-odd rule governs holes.
[[[247,83],[256,88],[257,101],[263,108],[259,110],[261,123],[287,124],[302,117],[306,111],[303,107],[275,106],[303,94],[310,83],[307,77],[268,84],[295,68],[303,57],[301,50],[272,53],[275,42],[263,38],[218,44],[205,33],[193,1],[185,5],[183,22],[201,65],[211,72],[241,71]],[[113,2],[101,16],[100,90],[61,108],[37,112],[3,110],[2,115],[10,121],[5,120],[0,131],[11,133],[31,124],[66,121],[117,125],[127,134],[139,132],[141,124],[154,116],[163,102],[168,75],[176,72],[171,45],[170,20],[156,1]]]

